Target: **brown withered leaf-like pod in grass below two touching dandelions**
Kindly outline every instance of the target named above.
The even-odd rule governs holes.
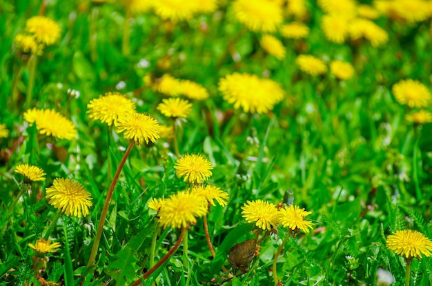
[[[257,249],[257,241],[255,239],[237,243],[231,247],[228,261],[234,269],[239,268],[242,272],[245,272],[255,257],[255,249]]]

